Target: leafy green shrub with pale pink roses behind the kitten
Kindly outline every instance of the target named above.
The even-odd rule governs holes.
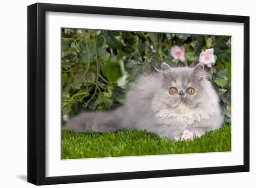
[[[62,117],[105,110],[125,102],[128,83],[162,62],[171,67],[205,64],[231,118],[231,39],[227,36],[62,29]]]

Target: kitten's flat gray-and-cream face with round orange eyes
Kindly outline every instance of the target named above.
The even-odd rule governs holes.
[[[162,101],[171,107],[195,107],[203,101],[203,67],[178,67],[164,70]]]

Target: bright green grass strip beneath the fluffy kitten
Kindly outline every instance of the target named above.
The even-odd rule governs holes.
[[[88,134],[63,130],[61,143],[62,159],[223,152],[231,151],[231,124],[224,123],[194,141],[173,142],[147,131]]]

